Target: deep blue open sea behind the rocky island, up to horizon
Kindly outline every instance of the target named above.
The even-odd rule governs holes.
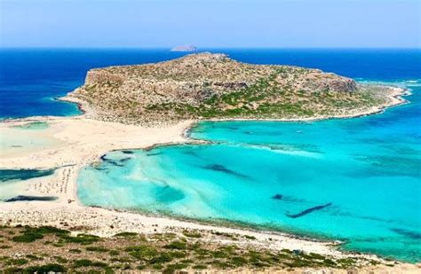
[[[244,62],[317,67],[377,81],[411,80],[421,74],[420,50],[204,51],[224,52]],[[0,118],[79,114],[75,105],[54,98],[80,86],[90,68],[157,62],[184,54],[168,49],[0,49]]]

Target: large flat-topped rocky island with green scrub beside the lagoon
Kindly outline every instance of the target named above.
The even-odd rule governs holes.
[[[245,64],[205,52],[91,69],[68,98],[87,103],[99,120],[147,124],[356,116],[395,105],[393,92],[319,69]]]

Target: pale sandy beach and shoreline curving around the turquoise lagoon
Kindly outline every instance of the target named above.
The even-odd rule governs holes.
[[[401,96],[406,95],[406,90],[401,88],[393,88],[393,90],[393,94],[390,95],[391,102],[385,104],[385,106],[377,106],[371,112],[367,111],[360,114],[337,117],[263,121],[315,121],[377,114],[383,112],[387,107],[398,106],[407,102],[407,100],[401,98]],[[99,160],[101,155],[112,150],[148,149],[156,145],[195,143],[194,139],[187,137],[187,132],[198,121],[183,121],[176,125],[155,128],[96,121],[91,119],[95,116],[94,111],[82,100],[68,97],[60,99],[78,104],[83,110],[83,114],[75,117],[28,117],[0,123],[0,129],[2,129],[4,125],[11,127],[28,123],[28,121],[48,121],[51,123],[53,137],[65,143],[58,148],[35,153],[31,152],[26,156],[14,157],[13,155],[6,155],[6,159],[0,160],[1,168],[58,168],[56,173],[48,179],[36,178],[28,180],[28,193],[59,197],[56,201],[0,203],[1,224],[38,225],[43,223],[57,227],[70,227],[74,231],[89,231],[105,237],[122,231],[141,231],[143,233],[182,231],[184,229],[221,231],[251,235],[257,239],[242,243],[246,245],[257,245],[274,249],[301,249],[305,252],[330,254],[338,257],[362,256],[382,261],[376,255],[350,254],[339,251],[337,248],[339,242],[337,241],[304,239],[282,232],[255,231],[238,227],[231,228],[221,225],[203,224],[191,220],[179,220],[172,217],[145,215],[99,207],[84,207],[77,199],[75,186],[75,180],[80,168]],[[210,121],[228,120],[233,121],[233,119]],[[246,120],[251,119],[239,119],[238,121]],[[234,121],[237,120],[234,119]],[[83,129],[83,132],[79,132],[80,129]],[[100,226],[99,223],[107,223],[107,227]],[[269,237],[272,240],[269,240]]]

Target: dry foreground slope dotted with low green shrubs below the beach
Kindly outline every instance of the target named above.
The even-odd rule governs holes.
[[[0,272],[345,270],[380,263],[361,257],[338,259],[322,254],[305,254],[299,250],[274,251],[222,244],[224,239],[247,241],[253,237],[208,233],[219,241],[203,240],[205,235],[201,231],[147,235],[123,232],[111,238],[99,238],[89,234],[74,235],[49,226],[1,227]],[[209,239],[209,235],[207,237]]]

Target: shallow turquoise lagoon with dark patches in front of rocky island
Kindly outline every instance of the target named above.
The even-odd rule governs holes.
[[[203,121],[170,145],[84,168],[84,204],[244,223],[421,262],[421,89],[355,119]]]

